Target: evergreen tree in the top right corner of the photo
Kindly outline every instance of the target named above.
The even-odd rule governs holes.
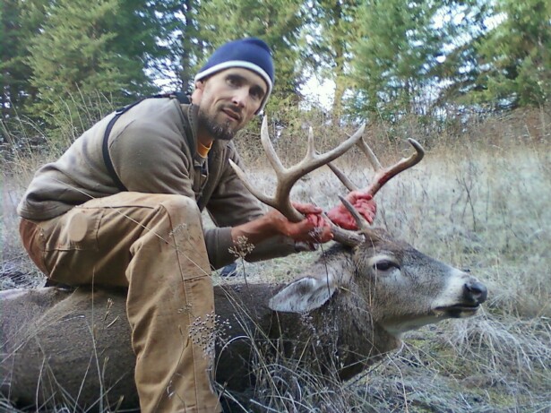
[[[473,45],[478,76],[469,98],[492,106],[544,105],[551,99],[551,3],[499,0],[495,28]]]

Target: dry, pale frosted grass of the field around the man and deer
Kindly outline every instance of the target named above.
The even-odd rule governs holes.
[[[380,130],[374,126],[369,134],[385,164],[407,155],[409,149],[399,139],[389,141],[383,126]],[[350,383],[319,383],[318,378],[294,372],[276,360],[264,366],[269,374],[263,375],[263,387],[253,395],[255,410],[551,411],[549,116],[542,111],[517,112],[473,121],[464,129],[457,134],[440,131],[440,140],[426,137],[426,159],[377,195],[375,223],[426,254],[468,268],[489,289],[483,311],[471,319],[410,332],[402,348]],[[415,125],[403,130],[413,131],[415,138],[416,133],[424,136]],[[302,129],[293,133],[297,131]],[[322,135],[322,146],[331,146],[336,131],[319,128],[314,133]],[[290,153],[289,161],[296,161],[297,153],[304,151],[297,135],[291,134],[280,132],[280,150]],[[270,191],[270,170],[255,151],[248,150],[254,138],[245,135],[237,143],[245,158],[251,158],[246,163],[253,166],[254,182]],[[291,138],[294,145],[288,141]],[[0,269],[4,274],[8,267],[20,271],[30,285],[38,282],[37,271],[19,245],[13,205],[36,163],[15,159],[17,168],[4,169],[2,193]],[[340,164],[357,184],[372,176],[357,153]],[[316,171],[297,183],[293,199],[329,208],[337,202],[337,193],[344,190],[336,180]],[[249,282],[286,281],[315,256],[240,265]],[[214,277],[222,283],[242,281]],[[8,279],[0,279],[2,288],[16,284]]]

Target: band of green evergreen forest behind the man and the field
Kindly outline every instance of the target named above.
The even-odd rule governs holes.
[[[0,139],[71,141],[112,108],[190,90],[205,56],[245,36],[273,49],[276,116],[312,77],[334,87],[338,121],[542,108],[550,21],[544,0],[3,0]]]

